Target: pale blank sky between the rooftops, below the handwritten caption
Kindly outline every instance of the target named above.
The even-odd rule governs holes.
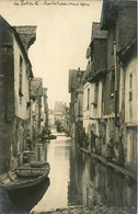
[[[43,86],[48,88],[49,109],[54,108],[55,101],[69,103],[69,69],[80,67],[84,70],[87,67],[92,22],[100,22],[102,0],[83,1],[89,3],[84,7],[14,5],[14,2],[1,0],[0,14],[11,25],[37,25],[36,41],[28,57],[34,76],[42,77]]]

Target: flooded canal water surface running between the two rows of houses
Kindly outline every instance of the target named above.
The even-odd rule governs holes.
[[[80,151],[69,137],[57,136],[36,150],[37,159],[50,164],[48,179],[25,198],[9,199],[10,209],[32,213],[84,205],[136,213],[136,183]]]

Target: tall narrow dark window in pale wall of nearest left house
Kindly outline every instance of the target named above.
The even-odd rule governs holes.
[[[20,104],[22,101],[22,78],[23,78],[23,58],[20,56],[20,74],[19,74],[19,95],[20,95]]]

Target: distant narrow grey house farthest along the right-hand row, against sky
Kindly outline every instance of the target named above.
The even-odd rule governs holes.
[[[82,77],[84,71],[80,68],[69,70],[69,93],[70,93],[70,116],[71,116],[71,137],[76,138],[78,126],[82,126],[83,121],[83,90]]]

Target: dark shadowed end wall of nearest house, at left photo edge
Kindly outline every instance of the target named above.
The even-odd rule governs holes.
[[[3,173],[10,169],[14,75],[11,29],[2,19],[0,29],[0,173]]]

